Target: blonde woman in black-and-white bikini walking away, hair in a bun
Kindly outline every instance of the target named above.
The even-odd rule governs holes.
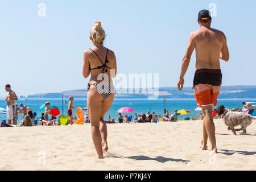
[[[99,20],[90,31],[90,40],[94,47],[84,52],[82,74],[90,75],[87,94],[87,108],[91,123],[92,139],[98,158],[103,158],[103,151],[108,150],[107,126],[104,116],[114,100],[112,78],[117,74],[114,52],[103,46],[105,31]]]

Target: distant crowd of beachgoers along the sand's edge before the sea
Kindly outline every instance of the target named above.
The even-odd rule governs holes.
[[[72,109],[77,109],[77,107],[73,107],[73,97],[69,97],[69,104],[68,104],[68,115],[69,115],[69,119],[68,119],[68,123],[67,125],[72,125],[73,123],[76,123],[77,121],[77,117],[73,117],[72,115]],[[20,103],[20,107],[18,106],[18,104],[14,104],[15,105],[15,121],[13,123],[11,123],[11,121],[9,120],[8,124],[6,123],[6,121],[2,121],[1,126],[11,126],[11,125],[16,125],[16,123],[18,122],[18,117],[19,115],[23,116],[22,121],[20,121],[19,125],[16,126],[56,126],[59,125],[60,123],[56,121],[56,115],[54,115],[53,113],[51,113],[51,110],[49,109],[49,107],[51,106],[50,102],[46,102],[45,103],[45,109],[44,109],[44,113],[42,113],[41,117],[38,118],[36,112],[33,112],[31,107],[27,107],[25,105],[23,105],[22,103]],[[245,112],[245,113],[249,113],[252,114],[254,111],[253,106],[250,103],[246,102],[242,102],[243,107],[238,108],[240,109],[240,111]],[[51,118],[49,118],[49,115],[51,115]],[[134,119],[133,119],[133,115],[128,116],[126,113],[124,114],[124,116],[122,115],[122,113],[118,114],[117,118],[111,118],[110,115],[108,115],[108,119],[105,121],[106,123],[157,123],[157,122],[177,122],[178,121],[178,117],[181,114],[177,113],[177,110],[174,110],[174,113],[170,114],[168,110],[165,111],[164,115],[158,115],[155,112],[150,112],[147,111],[146,114],[134,114]],[[218,116],[217,113],[217,109],[214,109],[212,111],[212,115],[213,118],[221,118],[220,116]],[[7,116],[8,117],[8,116]],[[203,113],[199,114],[199,118],[193,118],[193,117],[186,117],[183,118],[182,120],[197,120],[197,119],[204,119],[204,115]],[[90,119],[88,114],[85,114],[85,119],[84,119],[84,123],[90,123]]]

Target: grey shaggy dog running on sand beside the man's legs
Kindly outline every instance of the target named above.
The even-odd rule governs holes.
[[[231,130],[234,135],[236,131],[243,130],[243,134],[246,133],[246,127],[253,122],[254,117],[250,114],[242,112],[229,112],[224,105],[218,106],[217,108],[218,115],[222,115],[225,125],[228,126],[228,130]],[[234,129],[235,126],[241,125],[241,129]]]

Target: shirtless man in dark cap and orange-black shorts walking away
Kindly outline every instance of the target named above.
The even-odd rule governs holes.
[[[212,18],[208,10],[199,12],[197,22],[201,28],[193,31],[189,36],[188,48],[181,65],[177,88],[180,91],[183,89],[184,75],[188,69],[192,52],[196,48],[196,72],[193,88],[197,105],[202,107],[204,114],[201,149],[207,150],[209,137],[211,145],[209,151],[217,153],[212,108],[213,105],[217,105],[217,97],[221,87],[220,59],[228,61],[229,51],[224,33],[210,27]]]

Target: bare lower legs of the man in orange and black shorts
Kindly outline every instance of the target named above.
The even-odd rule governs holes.
[[[213,105],[202,107],[202,110],[204,113],[202,143],[203,143],[203,147],[205,147],[207,144],[207,138],[209,137],[209,140],[210,140],[210,150],[209,151],[217,153],[215,126],[214,126],[213,117],[212,117],[212,108],[213,108]],[[203,149],[203,147],[202,147],[202,149]]]

